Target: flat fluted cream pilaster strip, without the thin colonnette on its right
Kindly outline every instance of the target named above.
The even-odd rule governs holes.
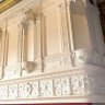
[[[59,5],[60,23],[61,23],[62,51],[70,51],[69,24],[68,24],[67,8],[68,8],[67,2],[63,2]]]

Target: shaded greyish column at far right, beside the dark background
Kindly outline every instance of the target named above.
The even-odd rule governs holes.
[[[100,12],[96,5],[93,5],[88,1],[86,1],[86,18],[89,23],[92,47],[101,55],[104,55],[105,54],[104,38],[100,22]]]

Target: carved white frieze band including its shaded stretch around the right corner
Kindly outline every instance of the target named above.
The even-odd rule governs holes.
[[[78,70],[75,70],[78,71]],[[84,96],[105,95],[105,79],[92,74],[78,73],[73,70],[58,72],[58,74],[39,75],[37,78],[21,79],[0,83],[0,101],[12,100],[45,100],[48,98],[81,98]],[[68,74],[67,74],[68,73]],[[63,74],[63,75],[62,75]],[[86,96],[86,97],[85,97]]]

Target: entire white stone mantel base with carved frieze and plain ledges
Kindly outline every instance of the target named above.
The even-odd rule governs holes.
[[[2,80],[0,104],[105,103],[105,72],[103,70],[88,65],[62,72],[43,73],[10,81]]]

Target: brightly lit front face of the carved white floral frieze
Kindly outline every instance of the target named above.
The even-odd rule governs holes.
[[[2,86],[0,86],[0,90],[2,90],[3,92],[4,89],[2,89]],[[81,75],[81,78],[77,75],[71,78],[60,77],[60,79],[58,78],[52,80],[50,79],[39,80],[37,82],[28,81],[23,83],[13,83],[13,85],[7,84],[5,88],[8,89],[7,92],[8,100],[18,100],[18,98],[26,100],[26,98],[54,97],[54,96],[59,97],[70,95],[81,96],[89,94],[85,93],[86,91],[84,91],[84,75]],[[1,94],[3,94],[2,92]],[[2,97],[0,97],[0,100],[3,100]]]

